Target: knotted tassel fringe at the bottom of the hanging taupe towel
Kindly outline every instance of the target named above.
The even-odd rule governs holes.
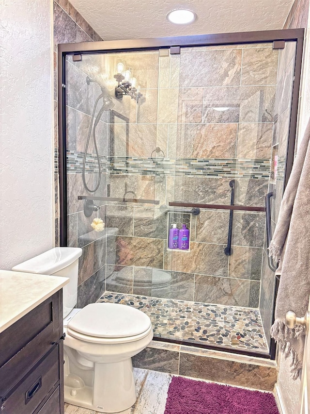
[[[290,365],[292,379],[300,378],[302,371],[302,361],[298,359],[298,354],[292,347],[288,338],[299,338],[305,335],[305,328],[301,325],[295,325],[294,329],[288,328],[283,320],[276,320],[270,329],[271,336],[278,342],[279,349],[284,358],[287,359],[290,355],[292,363]]]

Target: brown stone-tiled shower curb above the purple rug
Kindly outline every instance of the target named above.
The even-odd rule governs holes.
[[[137,368],[272,391],[277,381],[274,361],[153,341],[133,357]]]

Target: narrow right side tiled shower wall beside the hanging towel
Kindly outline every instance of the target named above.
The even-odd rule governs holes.
[[[273,192],[271,198],[271,228],[274,232],[278,221],[280,203],[283,194],[284,167],[286,163],[286,151],[291,112],[291,98],[295,65],[295,42],[286,42],[285,48],[279,50],[279,69],[277,79],[277,92],[274,115],[274,128],[272,145],[278,151],[278,174],[276,182],[269,183],[268,192]],[[272,312],[275,294],[275,274],[268,266],[267,242],[264,239],[262,287],[260,295],[260,311],[267,340],[270,340],[270,328],[272,324]]]

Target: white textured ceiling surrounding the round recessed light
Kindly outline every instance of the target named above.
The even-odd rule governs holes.
[[[281,29],[294,0],[70,0],[104,40]],[[187,26],[170,23],[174,9],[195,12]]]

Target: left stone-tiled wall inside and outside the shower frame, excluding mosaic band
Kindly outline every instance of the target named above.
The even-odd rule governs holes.
[[[88,22],[67,0],[54,1],[54,119],[55,119],[55,245],[59,246],[59,200],[58,200],[58,94],[57,94],[57,45],[59,43],[78,43],[99,41],[102,38],[93,30]],[[91,85],[87,89],[85,73],[67,62],[67,80],[69,87],[67,117],[67,148],[72,150],[84,150],[85,133],[90,123],[90,114],[93,105],[95,87]],[[75,92],[80,91],[80,95]],[[100,89],[99,89],[100,91]],[[73,92],[73,93],[72,93]],[[96,91],[98,92],[98,91]],[[91,99],[89,99],[91,98]],[[107,132],[105,125],[100,122],[97,127],[100,136],[99,152],[106,155]],[[89,152],[94,152],[92,145]],[[93,186],[95,174],[87,174],[88,185]],[[89,219],[83,214],[83,203],[78,201],[78,195],[82,195],[83,184],[81,174],[68,174],[68,246],[81,247],[83,254],[79,261],[78,274],[78,306],[82,307],[97,300],[105,290],[105,264],[106,264],[106,236],[96,233],[90,227],[95,214]],[[106,191],[106,179],[103,177],[97,195],[104,195]],[[100,214],[105,217],[105,206],[102,205]]]

